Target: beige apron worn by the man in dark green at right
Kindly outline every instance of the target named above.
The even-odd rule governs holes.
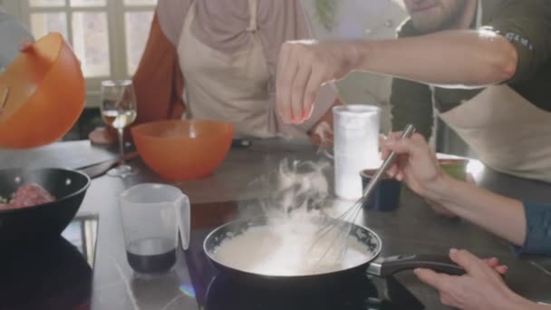
[[[478,26],[481,16],[478,5]],[[488,167],[551,182],[551,112],[537,108],[509,86],[489,86],[440,113],[440,118]]]

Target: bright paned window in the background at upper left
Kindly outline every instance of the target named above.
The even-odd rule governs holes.
[[[38,39],[63,34],[82,63],[87,106],[97,106],[100,83],[130,77],[140,62],[157,0],[5,0]],[[11,5],[14,6],[14,5]]]

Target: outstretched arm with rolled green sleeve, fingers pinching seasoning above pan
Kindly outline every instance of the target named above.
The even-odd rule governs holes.
[[[285,43],[278,68],[278,109],[285,121],[293,121],[309,108],[320,85],[354,70],[449,88],[527,79],[551,56],[549,6],[544,1],[514,2],[477,30],[395,40]]]

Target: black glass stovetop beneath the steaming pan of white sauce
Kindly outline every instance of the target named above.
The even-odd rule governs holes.
[[[424,309],[420,301],[395,278],[356,275],[336,286],[264,286],[237,282],[220,274],[203,251],[208,230],[191,232],[184,256],[191,286],[205,310],[324,310]]]

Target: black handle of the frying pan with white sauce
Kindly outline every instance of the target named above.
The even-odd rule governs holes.
[[[436,272],[462,276],[465,269],[443,255],[409,255],[378,258],[367,267],[371,276],[391,276],[403,270],[429,268]]]

